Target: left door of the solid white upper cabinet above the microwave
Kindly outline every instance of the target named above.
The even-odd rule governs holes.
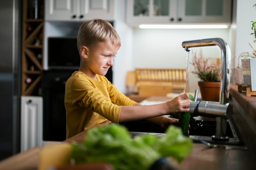
[[[77,21],[79,0],[45,0],[45,20]]]

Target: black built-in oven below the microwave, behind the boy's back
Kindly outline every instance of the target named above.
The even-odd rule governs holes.
[[[65,83],[73,72],[43,71],[43,142],[66,139]]]

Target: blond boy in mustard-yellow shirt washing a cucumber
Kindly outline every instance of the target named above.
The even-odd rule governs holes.
[[[149,106],[121,94],[104,76],[114,64],[120,46],[119,35],[109,22],[94,19],[80,26],[77,36],[80,68],[67,80],[65,89],[66,138],[110,122],[147,119],[167,128],[178,120],[163,115],[189,111],[188,94]]]

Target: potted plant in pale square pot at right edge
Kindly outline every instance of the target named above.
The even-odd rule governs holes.
[[[254,4],[254,7],[256,7],[256,4]],[[251,33],[251,35],[254,35],[254,43],[256,42],[256,31],[255,26],[256,22],[252,22],[252,30],[254,30],[254,33]],[[244,59],[241,59],[242,63],[242,70],[243,70],[243,78],[244,78],[244,85],[246,87],[251,88],[252,91],[256,91],[256,76],[253,75],[256,72],[256,50],[252,47],[251,44],[249,44],[252,48],[252,52],[247,52],[243,54]]]

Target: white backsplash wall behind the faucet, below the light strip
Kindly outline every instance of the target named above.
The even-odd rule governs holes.
[[[229,29],[135,29],[133,64],[135,68],[186,68],[186,51],[182,42],[193,39],[219,37],[229,44]],[[221,58],[218,46],[192,48],[192,52],[202,49],[205,57]],[[193,66],[189,65],[189,70]],[[189,72],[188,91],[198,87],[198,78]]]

